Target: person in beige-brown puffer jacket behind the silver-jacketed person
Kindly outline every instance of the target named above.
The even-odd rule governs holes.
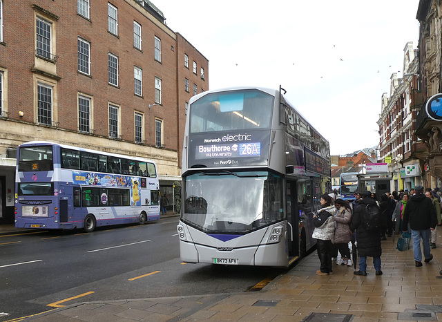
[[[348,243],[352,237],[349,223],[352,220],[352,209],[349,202],[342,199],[336,199],[334,202],[336,207],[336,214],[334,221],[336,222],[334,229],[334,245],[340,252],[340,259],[336,261],[336,265],[352,266],[352,259],[350,258],[350,249]]]

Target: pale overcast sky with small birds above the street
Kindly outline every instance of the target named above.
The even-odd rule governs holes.
[[[419,39],[419,0],[151,1],[209,59],[209,89],[281,85],[332,155],[379,144],[381,97]]]

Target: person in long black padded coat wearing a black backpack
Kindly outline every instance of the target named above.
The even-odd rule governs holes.
[[[376,275],[382,275],[381,270],[381,210],[376,205],[370,191],[364,191],[362,200],[354,209],[350,230],[356,231],[358,242],[359,270],[354,275],[367,276],[367,256],[373,257]],[[355,260],[356,258],[353,258]]]

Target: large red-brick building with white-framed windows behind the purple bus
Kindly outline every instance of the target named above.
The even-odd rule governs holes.
[[[32,140],[149,158],[173,193],[209,61],[164,21],[148,0],[0,0],[0,222],[17,146]]]

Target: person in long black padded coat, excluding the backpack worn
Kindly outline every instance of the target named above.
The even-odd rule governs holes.
[[[379,229],[366,230],[365,229],[365,206],[373,205],[378,207],[372,198],[369,191],[364,191],[363,199],[358,203],[354,209],[352,222],[350,223],[350,230],[356,230],[356,241],[358,242],[359,254],[359,270],[354,272],[355,275],[367,276],[367,256],[373,257],[374,269],[376,275],[382,275],[381,271],[381,231]]]

